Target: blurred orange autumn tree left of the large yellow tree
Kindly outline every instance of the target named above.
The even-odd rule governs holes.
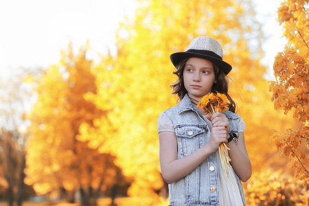
[[[25,182],[34,185],[38,194],[60,190],[73,203],[79,192],[81,205],[95,205],[103,187],[128,183],[111,155],[78,141],[80,124],[93,126],[94,119],[106,115],[84,99],[97,90],[88,50],[85,45],[75,55],[69,45],[60,63],[34,81],[37,100],[28,115],[32,124],[25,170]]]

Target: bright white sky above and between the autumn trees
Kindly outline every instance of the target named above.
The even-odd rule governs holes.
[[[283,0],[253,0],[268,40],[262,63],[272,67],[286,40],[276,10]],[[133,18],[133,0],[0,0],[0,77],[16,67],[47,67],[58,62],[60,49],[87,40],[93,51],[115,53],[115,31],[124,16]],[[272,71],[268,72],[270,78]]]

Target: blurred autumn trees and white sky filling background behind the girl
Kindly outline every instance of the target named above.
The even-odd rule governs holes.
[[[170,54],[196,36],[233,66],[247,205],[309,205],[308,14],[305,0],[0,1],[0,205],[168,205],[157,117],[176,105]]]

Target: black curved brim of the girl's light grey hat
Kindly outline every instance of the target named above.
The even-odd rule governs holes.
[[[205,60],[210,60],[211,62],[214,62],[216,65],[218,65],[218,67],[220,67],[220,69],[222,69],[223,73],[225,73],[226,75],[232,69],[231,65],[229,65],[227,62],[223,60],[220,60],[219,58],[208,56],[205,54],[196,54],[192,52],[176,52],[174,54],[171,54],[170,60],[172,61],[174,67],[178,67],[181,60],[192,57],[203,58]]]

